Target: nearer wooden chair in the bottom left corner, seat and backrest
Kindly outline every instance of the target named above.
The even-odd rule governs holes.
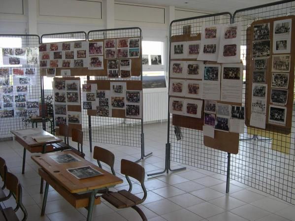
[[[20,185],[17,177],[12,173],[7,172],[5,176],[5,185],[16,201],[15,209],[13,209],[12,207],[8,207],[2,210],[5,220],[19,221],[15,213],[18,211],[19,208],[21,208],[22,212],[24,213],[24,218],[22,219],[22,221],[26,221],[28,218],[28,213],[22,203],[22,186]]]

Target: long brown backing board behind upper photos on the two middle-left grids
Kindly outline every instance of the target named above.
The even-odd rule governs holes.
[[[111,39],[116,39],[116,38],[111,38]],[[93,42],[93,41],[104,42],[104,39],[90,40],[89,42]],[[142,45],[140,45],[140,51],[141,50],[142,50]],[[88,56],[88,59],[89,59],[89,56]],[[129,59],[129,58],[126,58],[126,59]],[[68,69],[71,71],[71,76],[107,76],[107,60],[119,60],[119,59],[104,59],[104,55],[103,55],[103,70],[89,70],[88,67],[56,68],[56,76],[61,76],[61,70],[68,70]],[[46,68],[40,69],[40,75],[46,76]],[[131,76],[140,76],[140,75],[141,75],[141,57],[131,58]]]

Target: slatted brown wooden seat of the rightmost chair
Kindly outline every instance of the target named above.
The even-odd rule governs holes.
[[[128,192],[126,189],[118,192],[105,193],[101,197],[118,209],[132,207],[142,203],[143,201],[131,192]]]

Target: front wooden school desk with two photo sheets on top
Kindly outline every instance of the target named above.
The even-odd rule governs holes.
[[[65,154],[71,154],[75,158],[79,159],[79,161],[58,163],[53,158],[51,158],[51,156],[58,156],[58,155],[65,155]],[[48,193],[48,187],[49,187],[48,183],[52,182],[52,180],[55,183],[55,185],[53,185],[53,188],[56,189],[57,191],[60,190],[61,188],[64,188],[69,193],[82,193],[85,191],[91,192],[89,197],[89,204],[88,204],[87,221],[92,220],[94,201],[96,198],[95,195],[98,192],[98,189],[109,188],[117,184],[123,183],[123,180],[120,179],[119,177],[116,177],[113,174],[99,168],[97,165],[87,161],[86,159],[79,157],[72,151],[47,153],[47,154],[42,154],[40,156],[35,155],[35,156],[32,156],[31,158],[43,169],[43,171],[45,171],[46,176],[48,176],[48,181],[46,181],[46,178],[44,178],[44,180],[46,181],[46,186],[45,186],[41,214],[44,214],[45,212],[47,193]],[[94,176],[94,177],[85,178],[85,179],[78,179],[66,170],[69,168],[76,168],[76,167],[82,167],[82,166],[91,166],[92,168],[103,173],[103,175]]]

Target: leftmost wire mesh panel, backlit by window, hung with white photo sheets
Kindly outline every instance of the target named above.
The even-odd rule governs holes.
[[[22,102],[24,106],[22,105],[18,106],[20,102],[17,102],[17,101],[20,101],[18,100],[20,98],[19,95],[25,95],[24,99],[20,98],[21,101],[34,100],[39,102],[40,100],[40,97],[41,97],[40,71],[39,71],[39,65],[36,60],[38,55],[33,55],[33,53],[38,52],[37,47],[39,46],[39,42],[40,42],[40,38],[38,35],[0,34],[0,48],[8,48],[8,50],[9,49],[13,50],[13,48],[19,48],[19,49],[27,48],[26,49],[27,57],[24,63],[21,62],[20,64],[16,63],[11,65],[10,64],[3,65],[9,69],[9,86],[13,86],[13,92],[11,93],[9,92],[8,94],[12,95],[13,97],[12,98],[13,100],[11,102],[13,106],[9,107],[9,109],[10,110],[14,109],[14,117],[1,116],[0,140],[11,139],[12,134],[10,133],[10,130],[32,127],[32,124],[29,121],[29,117],[31,117],[31,115],[38,114],[39,105],[36,105],[34,109],[35,114],[33,114],[33,112],[30,111],[28,115],[28,112],[26,112],[26,109],[25,109],[28,103],[25,104],[26,102]],[[34,61],[31,61],[30,58],[33,59]],[[20,75],[19,78],[14,78],[14,76],[16,75]],[[24,80],[21,80],[22,77],[24,77]],[[27,77],[30,78],[29,80],[30,82],[25,80],[25,78]],[[17,82],[17,80],[19,80],[19,82]],[[1,96],[6,94],[6,92],[4,92],[3,94],[4,86],[2,86],[3,85],[2,83],[0,86]],[[3,98],[4,97],[1,97],[0,100],[3,100]],[[4,105],[5,102],[3,101],[1,102],[1,110],[6,109]],[[16,105],[16,102],[17,102],[17,105]],[[21,111],[24,111],[24,112],[22,113]]]

